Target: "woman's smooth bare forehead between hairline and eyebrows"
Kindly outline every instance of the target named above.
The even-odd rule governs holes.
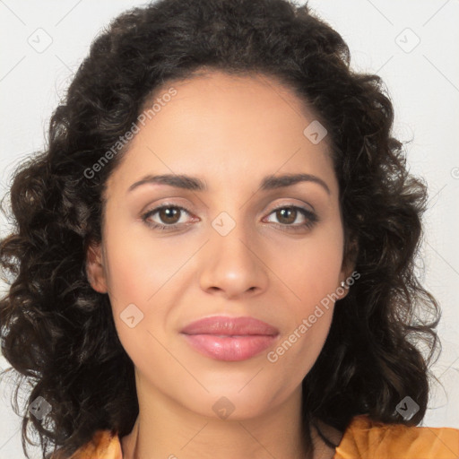
[[[171,88],[175,95],[161,100]],[[312,143],[305,134],[316,123],[313,112],[271,77],[202,74],[163,85],[143,112],[154,102],[160,102],[154,115],[139,125],[108,188],[126,189],[147,173],[201,177],[210,191],[277,173],[314,173],[334,182],[327,137]]]

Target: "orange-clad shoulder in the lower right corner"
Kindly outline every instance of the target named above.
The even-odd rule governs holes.
[[[385,424],[355,416],[333,459],[457,459],[459,429]]]

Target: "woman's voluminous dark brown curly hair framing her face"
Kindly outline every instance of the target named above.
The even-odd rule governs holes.
[[[99,429],[120,437],[133,429],[134,364],[108,295],[91,288],[85,267],[86,250],[101,241],[107,179],[129,143],[91,178],[87,171],[108,158],[161,88],[212,71],[276,79],[328,132],[344,259],[360,277],[336,303],[325,345],[302,383],[307,451],[312,426],[337,446],[317,420],[343,432],[359,414],[417,425],[426,413],[429,363],[440,345],[440,310],[415,264],[427,186],[407,171],[381,78],[354,72],[341,35],[307,4],[160,0],[102,30],[52,114],[47,145],[13,173],[14,226],[0,244],[8,285],[0,301],[1,350],[17,388],[24,380],[31,385],[28,404],[43,397],[51,406],[41,420],[19,413],[16,388],[27,457],[29,422],[44,458],[49,443],[66,456]],[[410,420],[396,412],[405,396],[419,405]]]

